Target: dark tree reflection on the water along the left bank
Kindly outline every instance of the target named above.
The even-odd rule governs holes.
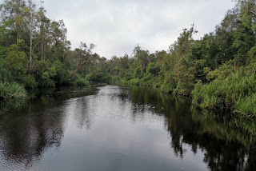
[[[0,115],[0,150],[7,161],[21,161],[29,168],[64,136],[66,99],[97,93],[94,87],[42,89],[29,93],[26,105],[14,105]],[[3,106],[2,109],[6,109]]]

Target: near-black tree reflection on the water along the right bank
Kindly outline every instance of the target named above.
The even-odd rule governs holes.
[[[186,155],[185,146],[190,145],[194,154],[204,152],[203,162],[210,170],[256,170],[256,121],[199,113],[188,107],[189,99],[174,99],[157,89],[130,89],[135,110],[151,105],[154,113],[166,117],[170,147],[177,157]]]

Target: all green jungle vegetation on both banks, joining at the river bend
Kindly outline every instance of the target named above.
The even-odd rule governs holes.
[[[200,40],[192,25],[169,50],[136,46],[110,60],[94,44],[71,50],[64,22],[32,0],[5,0],[0,10],[0,101],[26,98],[25,89],[106,82],[154,86],[191,96],[198,108],[256,116],[255,0],[237,1]]]

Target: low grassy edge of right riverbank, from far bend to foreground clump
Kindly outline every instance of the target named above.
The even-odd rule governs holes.
[[[250,66],[248,66],[250,67]],[[119,85],[140,85],[154,87],[161,93],[175,97],[190,97],[194,109],[203,109],[221,113],[234,113],[243,117],[256,117],[256,79],[251,70],[242,69],[225,79],[216,79],[209,84],[198,83],[190,93],[184,95],[170,91],[171,85],[155,82],[119,81]]]

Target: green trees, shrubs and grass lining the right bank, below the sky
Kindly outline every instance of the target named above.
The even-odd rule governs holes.
[[[111,82],[159,87],[164,93],[193,97],[202,109],[231,109],[256,116],[256,4],[238,1],[214,32],[194,40],[194,26],[184,29],[166,51],[108,61]]]

